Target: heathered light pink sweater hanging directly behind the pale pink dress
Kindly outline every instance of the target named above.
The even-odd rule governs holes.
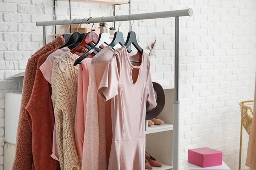
[[[107,170],[111,150],[111,101],[105,102],[97,89],[113,56],[106,46],[91,61],[84,130],[82,170]]]

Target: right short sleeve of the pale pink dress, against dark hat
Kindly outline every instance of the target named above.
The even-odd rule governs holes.
[[[150,74],[150,62],[148,63],[148,71],[147,71],[147,100],[151,108],[155,108],[157,106],[157,101],[154,94],[154,87],[153,87],[151,74]]]

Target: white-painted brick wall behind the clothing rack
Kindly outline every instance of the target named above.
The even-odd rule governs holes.
[[[187,149],[212,147],[238,170],[240,109],[253,99],[256,72],[256,1],[131,0],[131,14],[193,8],[180,18],[180,170]],[[57,20],[68,19],[67,2],[56,2]],[[72,19],[113,15],[113,6],[72,3]],[[128,14],[128,5],[116,14]],[[39,20],[53,20],[52,0],[0,0],[0,170],[3,169],[4,93],[18,89],[11,76],[24,71],[42,45]],[[116,23],[117,26],[119,23]],[[109,23],[108,27],[113,23]],[[171,28],[170,28],[171,27]],[[120,29],[128,32],[128,22]],[[57,30],[64,33],[65,30]],[[151,56],[152,79],[174,85],[174,19],[135,21],[140,45],[157,40]],[[48,42],[53,27],[47,27]],[[171,56],[171,57],[170,57]],[[242,164],[247,153],[244,131]],[[244,165],[242,169],[248,169]]]

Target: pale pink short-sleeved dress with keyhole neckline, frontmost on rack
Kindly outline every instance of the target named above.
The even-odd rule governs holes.
[[[137,53],[135,57],[140,55]],[[134,56],[131,57],[135,58]],[[146,101],[156,107],[150,74],[150,60],[143,52],[140,66],[134,66],[125,46],[117,49],[102,77],[97,93],[111,101],[113,139],[109,170],[145,169]],[[139,69],[133,79],[133,70]]]

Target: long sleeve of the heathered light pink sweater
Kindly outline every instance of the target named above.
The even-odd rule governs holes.
[[[99,119],[97,88],[94,79],[89,79],[87,111],[84,130],[82,170],[99,169]]]

